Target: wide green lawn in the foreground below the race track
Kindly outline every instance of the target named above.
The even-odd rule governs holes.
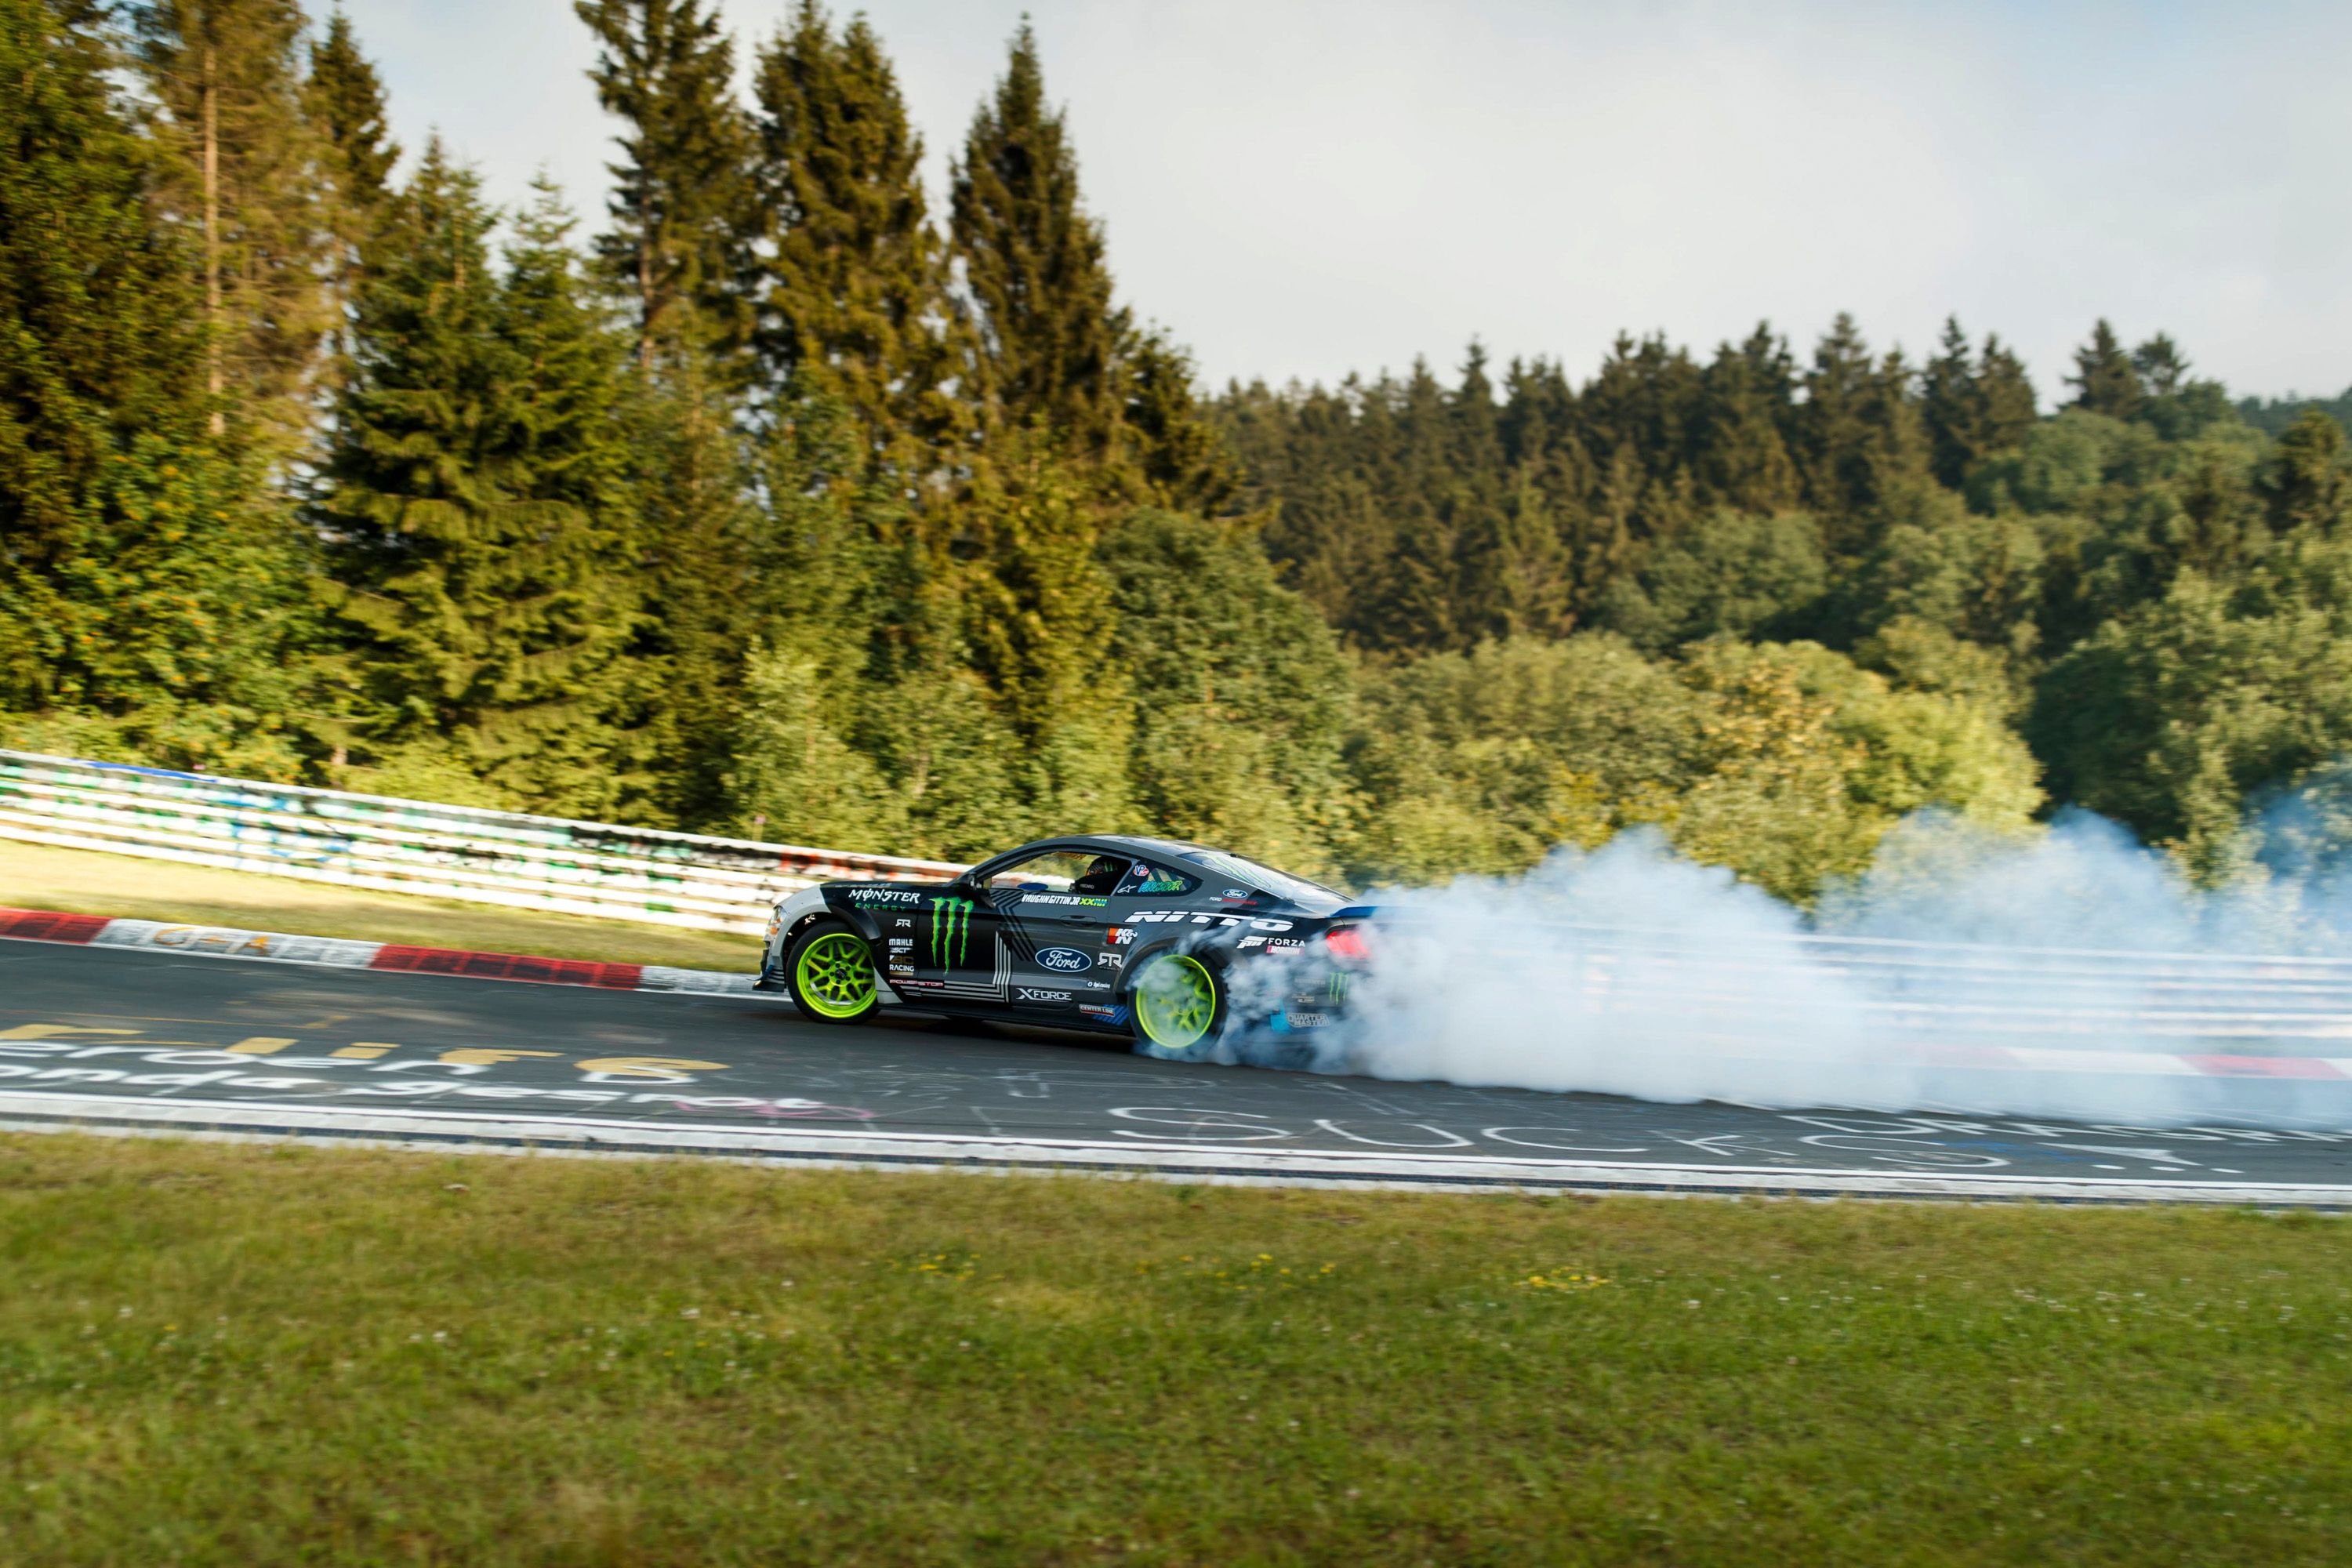
[[[2345,1563],[2343,1225],[21,1135],[0,1559]]]

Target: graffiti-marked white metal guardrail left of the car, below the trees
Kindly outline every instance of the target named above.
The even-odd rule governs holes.
[[[964,870],[9,750],[0,839],[701,931],[760,931],[811,882]]]

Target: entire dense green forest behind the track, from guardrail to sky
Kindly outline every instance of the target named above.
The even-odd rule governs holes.
[[[1025,26],[934,212],[863,19],[576,12],[595,221],[393,146],[341,14],[0,0],[0,743],[1357,884],[1656,825],[1809,900],[1924,809],[2244,877],[2352,738],[2340,404],[1846,317],[1211,395]]]

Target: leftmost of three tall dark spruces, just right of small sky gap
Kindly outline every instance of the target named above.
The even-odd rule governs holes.
[[[607,275],[637,303],[637,362],[741,346],[736,289],[748,209],[748,134],[734,103],[734,42],[708,0],[574,0],[602,52],[588,73],[616,143]]]

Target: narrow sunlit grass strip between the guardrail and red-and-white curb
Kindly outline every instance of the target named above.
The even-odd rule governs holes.
[[[459,898],[369,893],[325,882],[223,872],[92,849],[52,849],[0,839],[0,905],[169,919],[195,926],[242,926],[296,936],[353,936],[423,947],[532,952],[607,964],[680,964],[684,969],[760,966],[757,936],[677,931],[630,919],[501,910]]]

